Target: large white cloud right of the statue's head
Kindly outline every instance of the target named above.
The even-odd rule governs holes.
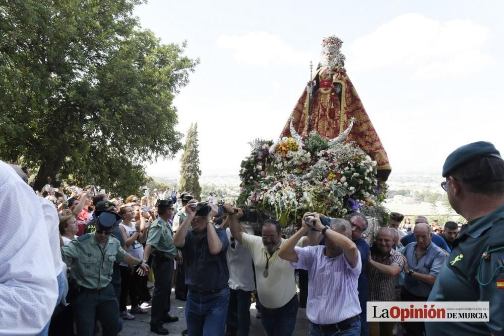
[[[470,20],[438,22],[405,14],[358,38],[350,46],[353,71],[393,67],[416,79],[460,76],[491,65],[483,53],[488,27]]]

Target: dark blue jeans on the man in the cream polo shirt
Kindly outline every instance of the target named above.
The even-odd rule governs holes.
[[[291,336],[296,325],[297,295],[283,307],[269,309],[260,304],[261,322],[268,336]]]

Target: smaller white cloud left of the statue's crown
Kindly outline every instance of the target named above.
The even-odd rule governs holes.
[[[270,66],[273,64],[306,65],[313,55],[299,51],[282,40],[280,35],[251,32],[245,35],[221,35],[217,46],[231,49],[238,64]],[[313,53],[314,54],[314,53]]]

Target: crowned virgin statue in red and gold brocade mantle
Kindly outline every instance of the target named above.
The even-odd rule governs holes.
[[[344,68],[345,56],[340,52],[341,41],[336,36],[322,40],[322,57],[317,71],[303,90],[280,137],[290,136],[290,120],[298,134],[317,131],[333,139],[345,131],[351,118],[355,123],[347,141],[355,141],[377,162],[378,177],[386,181],[391,172],[387,153],[357,91]]]

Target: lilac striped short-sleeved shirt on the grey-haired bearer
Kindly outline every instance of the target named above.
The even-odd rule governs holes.
[[[357,280],[362,262],[352,268],[343,256],[328,258],[325,246],[295,247],[297,263],[292,267],[308,271],[306,316],[316,324],[333,324],[360,314]]]

